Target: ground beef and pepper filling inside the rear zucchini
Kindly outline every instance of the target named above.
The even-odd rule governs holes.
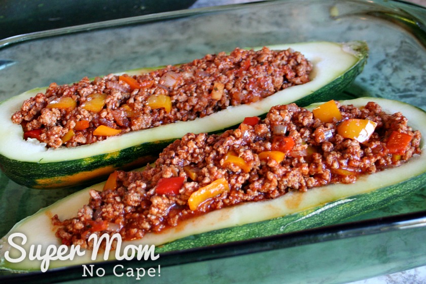
[[[312,65],[291,49],[235,49],[133,76],[51,84],[12,116],[24,138],[75,147],[111,135],[194,120],[309,81]],[[107,132],[96,131],[107,126]],[[112,128],[112,129],[110,129]],[[105,129],[105,128],[104,128]]]

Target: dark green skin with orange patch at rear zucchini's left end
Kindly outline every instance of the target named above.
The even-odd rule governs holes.
[[[29,188],[83,186],[100,181],[117,169],[133,169],[154,161],[174,140],[147,142],[113,153],[53,163],[16,161],[0,155],[0,168],[12,181]],[[33,178],[29,179],[31,176]]]

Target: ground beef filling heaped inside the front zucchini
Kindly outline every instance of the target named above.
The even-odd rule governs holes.
[[[113,173],[108,188],[90,191],[89,203],[76,218],[60,221],[55,216],[56,236],[65,244],[89,248],[92,233],[142,238],[211,210],[330,183],[353,183],[362,174],[398,166],[420,154],[421,135],[401,113],[386,114],[373,102],[362,108],[336,106],[342,115],[339,122],[321,122],[312,112],[289,104],[272,108],[264,120],[246,119],[238,129],[221,135],[189,133],[144,171]],[[338,134],[339,125],[353,118],[376,123],[363,143]],[[407,134],[409,141],[403,152],[392,154],[390,136],[395,132]],[[293,141],[290,146],[289,141]],[[284,155],[276,160],[264,153]],[[160,185],[179,179],[181,184],[178,181],[174,190]],[[201,198],[191,209],[194,193],[218,181],[229,190]]]

